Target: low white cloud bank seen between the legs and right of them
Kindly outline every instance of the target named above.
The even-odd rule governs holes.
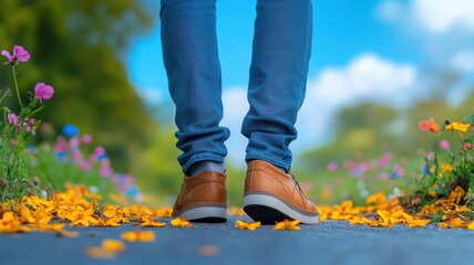
[[[413,89],[418,72],[409,64],[396,64],[374,54],[362,54],[343,67],[328,67],[308,83],[307,97],[299,113],[298,140],[291,148],[296,155],[308,147],[316,147],[333,132],[330,127],[337,112],[361,99],[381,104],[403,105],[414,100]],[[244,166],[247,139],[240,127],[248,110],[247,87],[226,87],[223,94],[224,119],[230,129],[227,140],[228,158],[234,165]]]

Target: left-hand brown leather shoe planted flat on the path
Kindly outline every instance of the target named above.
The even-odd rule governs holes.
[[[185,176],[172,215],[195,222],[226,222],[226,174],[204,171],[194,177]]]

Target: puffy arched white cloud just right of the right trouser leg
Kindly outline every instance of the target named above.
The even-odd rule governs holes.
[[[319,146],[333,131],[331,120],[337,112],[360,100],[403,106],[423,93],[413,89],[418,72],[412,65],[396,64],[374,54],[362,54],[347,66],[326,68],[308,83],[305,104],[299,113],[299,140],[296,151]],[[328,129],[329,128],[329,129]]]

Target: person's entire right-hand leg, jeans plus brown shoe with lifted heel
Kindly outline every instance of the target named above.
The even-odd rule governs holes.
[[[249,139],[244,210],[262,223],[319,221],[315,203],[288,173],[292,160],[289,145],[297,138],[295,123],[306,92],[311,14],[311,0],[257,1],[250,109],[243,124],[243,134]]]

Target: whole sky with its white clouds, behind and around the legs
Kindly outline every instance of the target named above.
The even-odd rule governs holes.
[[[217,1],[229,157],[241,157],[239,124],[247,110],[255,0]],[[158,10],[156,11],[158,12]],[[330,139],[324,126],[338,109],[360,100],[405,106],[429,93],[424,68],[474,75],[472,0],[316,0],[308,91],[297,128],[296,152]],[[126,59],[132,83],[150,103],[167,104],[159,21],[137,38]],[[393,95],[398,95],[393,98]],[[315,115],[317,114],[317,115]],[[173,117],[169,117],[169,121]]]

